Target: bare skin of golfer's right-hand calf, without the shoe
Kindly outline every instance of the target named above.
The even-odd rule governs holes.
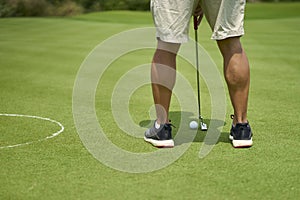
[[[246,123],[250,86],[249,62],[239,37],[217,41],[224,58],[224,76],[234,109],[233,124]]]

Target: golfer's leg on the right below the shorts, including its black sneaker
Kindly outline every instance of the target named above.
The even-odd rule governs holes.
[[[224,58],[224,76],[234,109],[230,139],[234,147],[252,146],[252,132],[247,119],[250,86],[249,62],[240,37],[217,41]]]

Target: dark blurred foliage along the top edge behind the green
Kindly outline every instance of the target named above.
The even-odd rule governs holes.
[[[300,0],[248,0],[292,2]],[[150,0],[0,0],[0,17],[69,16],[107,10],[149,10]]]

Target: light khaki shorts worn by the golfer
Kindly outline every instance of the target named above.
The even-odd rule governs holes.
[[[151,0],[156,37],[170,43],[187,42],[190,19],[198,3],[213,31],[212,39],[244,34],[246,0]]]

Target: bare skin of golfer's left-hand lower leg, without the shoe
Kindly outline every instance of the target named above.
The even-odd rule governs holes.
[[[158,124],[169,122],[168,113],[176,80],[176,55],[179,47],[180,44],[158,40],[153,56],[151,82]]]

